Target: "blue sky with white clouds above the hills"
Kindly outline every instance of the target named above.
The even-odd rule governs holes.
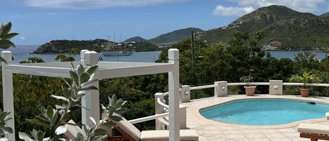
[[[224,27],[262,6],[320,15],[329,0],[0,0],[0,23],[12,22],[17,45],[53,39],[152,39],[175,29]],[[121,38],[120,38],[121,36]]]

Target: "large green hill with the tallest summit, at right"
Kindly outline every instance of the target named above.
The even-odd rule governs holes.
[[[328,17],[300,13],[286,6],[258,8],[227,27],[210,29],[197,36],[209,43],[229,43],[235,31],[253,35],[261,30],[265,33],[261,43],[267,50],[329,48]]]

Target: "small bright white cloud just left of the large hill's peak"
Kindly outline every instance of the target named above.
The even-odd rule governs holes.
[[[255,8],[252,6],[248,7],[224,7],[222,5],[216,6],[213,11],[214,15],[222,15],[222,16],[240,16],[245,15],[247,13],[255,11]]]

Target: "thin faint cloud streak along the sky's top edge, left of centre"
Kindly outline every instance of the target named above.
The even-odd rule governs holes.
[[[154,4],[176,3],[189,0],[24,0],[25,4],[37,8],[93,9],[110,7],[137,7]]]

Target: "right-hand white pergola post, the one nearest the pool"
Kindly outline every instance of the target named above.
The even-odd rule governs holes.
[[[180,51],[171,48],[168,62],[174,64],[173,72],[168,73],[169,92],[169,140],[180,140]]]

